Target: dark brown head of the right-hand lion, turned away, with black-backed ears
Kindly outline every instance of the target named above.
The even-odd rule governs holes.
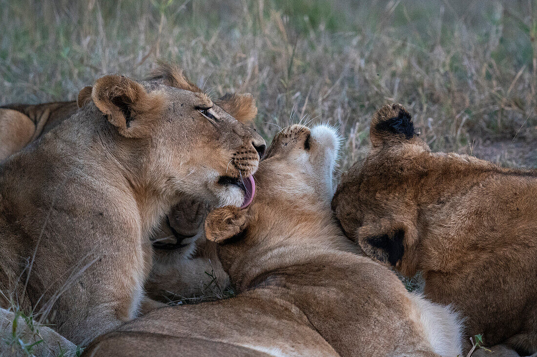
[[[376,111],[370,135],[367,158],[342,176],[332,209],[345,234],[367,255],[413,274],[413,267],[403,262],[417,240],[416,195],[429,147],[400,104]]]

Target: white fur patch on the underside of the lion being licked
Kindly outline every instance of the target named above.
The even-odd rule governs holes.
[[[410,294],[410,300],[433,351],[446,357],[462,354],[462,323],[455,311],[416,292]]]

